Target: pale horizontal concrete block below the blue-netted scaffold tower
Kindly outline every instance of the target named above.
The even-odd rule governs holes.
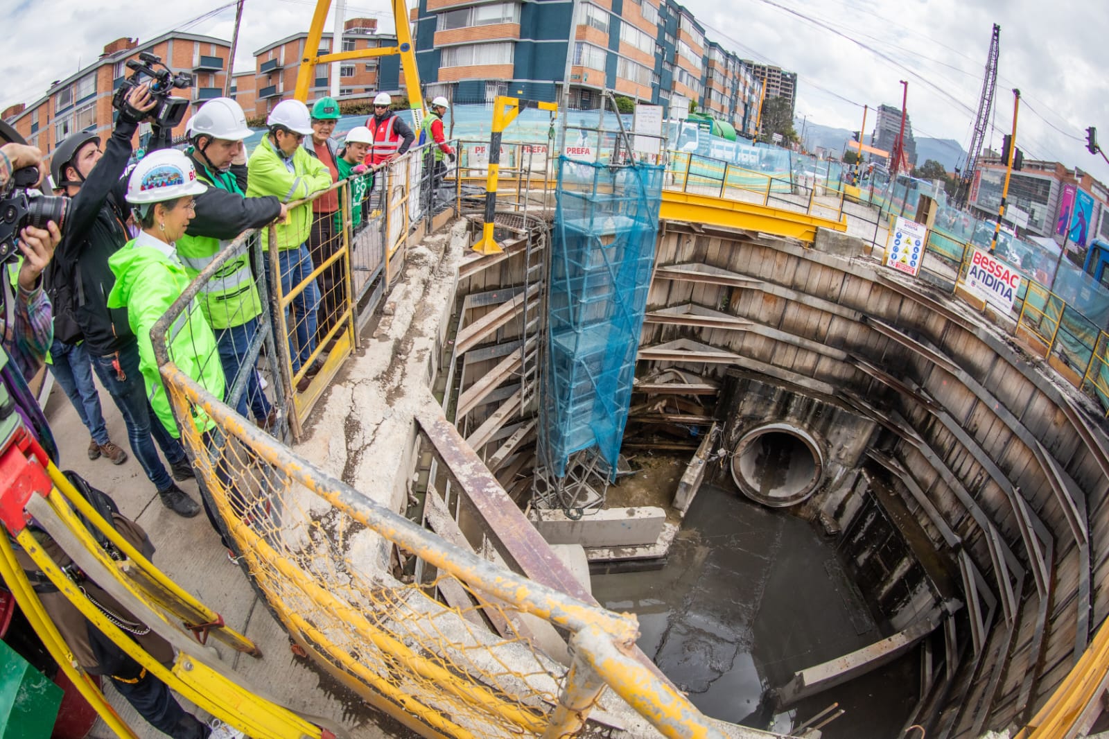
[[[667,523],[667,512],[655,506],[587,512],[577,520],[562,510],[533,508],[528,517],[549,544],[580,544],[587,548],[650,545],[658,540]]]

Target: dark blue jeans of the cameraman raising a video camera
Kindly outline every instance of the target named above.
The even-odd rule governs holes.
[[[113,366],[116,357],[120,363],[119,371]],[[150,402],[146,399],[146,383],[139,371],[139,344],[131,342],[116,354],[94,356],[92,367],[123,414],[131,451],[142,465],[146,477],[159,490],[166,489],[173,485],[173,478],[157,458],[157,449],[154,448],[151,436],[162,447],[162,453],[171,465],[185,459],[185,451],[181,442],[170,436],[162,422],[154,415],[154,409],[150,407]]]

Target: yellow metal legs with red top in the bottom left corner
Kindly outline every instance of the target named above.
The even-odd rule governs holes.
[[[204,640],[212,635],[240,651],[260,656],[254,644],[224,626],[217,613],[182,590],[139,554],[89,505],[23,431],[18,431],[0,451],[0,519],[6,529],[6,534],[0,535],[0,577],[51,657],[118,736],[136,735],[74,659],[19,565],[12,539],[96,629],[147,672],[201,708],[251,737],[334,737],[333,731],[322,729],[241,685],[237,676],[220,662],[211,648],[204,646]],[[121,561],[109,556],[78,518],[79,514],[119,548],[123,555]],[[124,604],[139,620],[175,648],[177,656],[172,666],[166,667],[151,657],[89,598],[35,538],[28,526],[31,520],[50,535],[85,577]],[[180,619],[182,625],[175,625],[175,619]],[[192,631],[191,636],[186,629]]]

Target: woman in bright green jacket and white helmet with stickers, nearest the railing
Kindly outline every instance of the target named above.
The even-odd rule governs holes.
[[[174,437],[180,437],[182,429],[174,421],[170,398],[162,385],[153,341],[167,341],[170,361],[217,399],[223,401],[226,385],[215,335],[195,300],[170,324],[165,336],[151,337],[154,324],[191,281],[174,242],[185,234],[189,222],[196,214],[193,199],[205,190],[206,185],[196,179],[196,170],[182,152],[165,149],[145,156],[131,174],[126,195],[142,231],[108,260],[115,273],[108,305],[128,310],[128,322],[139,340],[139,368],[146,383],[146,396],[154,414]],[[232,506],[245,510],[242,493],[227,473],[226,460],[212,448],[216,442],[212,434],[215,422],[199,406],[192,407],[190,422],[203,435],[213,456],[218,457],[216,477],[227,488]],[[210,497],[202,484],[204,512],[224,546],[228,546]]]

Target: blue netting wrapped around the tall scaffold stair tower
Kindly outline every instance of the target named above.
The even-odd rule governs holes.
[[[663,168],[559,158],[541,462],[596,453],[614,478],[654,264]]]

